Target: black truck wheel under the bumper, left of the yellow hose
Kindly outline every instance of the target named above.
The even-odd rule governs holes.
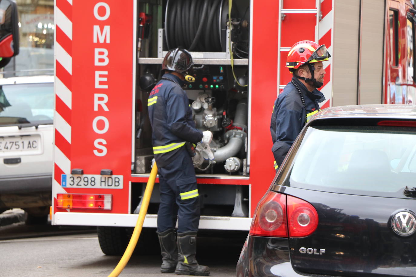
[[[105,255],[123,255],[129,244],[126,227],[98,226],[97,235]]]

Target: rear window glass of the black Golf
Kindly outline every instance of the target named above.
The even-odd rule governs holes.
[[[416,128],[308,127],[288,185],[347,194],[406,197],[416,186]]]

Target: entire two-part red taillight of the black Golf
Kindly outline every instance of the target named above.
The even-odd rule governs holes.
[[[317,226],[318,213],[310,203],[269,191],[257,206],[249,233],[257,236],[299,238],[312,234]]]

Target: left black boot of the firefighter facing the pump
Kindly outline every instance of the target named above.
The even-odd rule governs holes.
[[[178,247],[174,229],[168,229],[162,233],[157,233],[159,237],[160,249],[162,252],[162,273],[174,272],[178,263]]]

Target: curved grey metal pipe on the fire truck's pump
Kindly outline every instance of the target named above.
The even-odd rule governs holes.
[[[235,117],[233,126],[240,127],[243,130],[247,130],[247,119],[248,118],[248,104],[247,98],[243,98],[238,101],[237,110],[235,111]],[[230,130],[225,135],[228,135],[230,139],[227,145],[218,148],[214,152],[215,162],[224,162],[230,157],[234,157],[243,147],[245,140],[245,132],[241,130]]]

